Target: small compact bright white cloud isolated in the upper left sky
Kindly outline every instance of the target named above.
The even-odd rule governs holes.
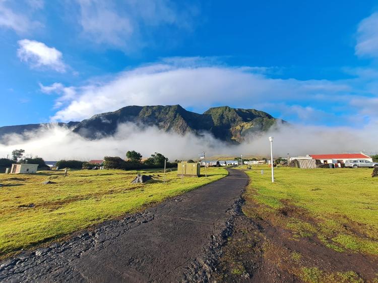
[[[56,72],[65,73],[67,65],[62,60],[62,53],[54,47],[34,40],[23,39],[18,41],[17,55],[33,68],[50,68]]]

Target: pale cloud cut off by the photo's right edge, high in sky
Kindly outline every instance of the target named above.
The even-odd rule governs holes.
[[[357,29],[356,55],[378,57],[378,13],[363,19]]]

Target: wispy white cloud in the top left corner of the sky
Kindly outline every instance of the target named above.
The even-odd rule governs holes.
[[[38,28],[41,24],[30,19],[26,13],[15,12],[7,0],[0,0],[0,27],[12,29],[19,34]],[[20,3],[19,3],[20,5]]]

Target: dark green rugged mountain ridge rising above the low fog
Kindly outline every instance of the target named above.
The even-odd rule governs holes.
[[[187,132],[202,134],[209,132],[226,142],[240,143],[246,136],[267,131],[277,122],[266,112],[255,109],[213,107],[203,114],[187,111],[180,105],[127,106],[114,112],[96,114],[81,122],[60,123],[81,136],[96,139],[112,135],[121,123],[132,122],[140,127],[157,126],[163,131],[184,135]],[[0,127],[0,140],[5,134],[35,130],[43,124]]]

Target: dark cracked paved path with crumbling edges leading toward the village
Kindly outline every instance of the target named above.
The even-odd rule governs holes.
[[[229,172],[141,214],[0,262],[0,281],[206,280],[248,181]]]

